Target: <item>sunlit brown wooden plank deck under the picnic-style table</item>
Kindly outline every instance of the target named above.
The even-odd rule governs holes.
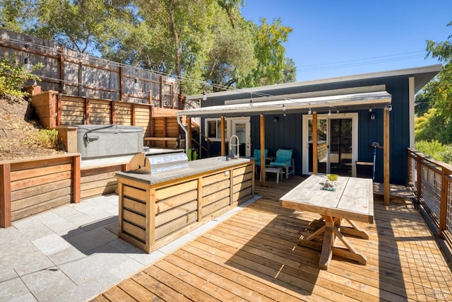
[[[367,265],[333,256],[319,269],[320,252],[296,244],[319,217],[278,202],[302,180],[256,186],[257,202],[92,301],[451,301],[451,265],[406,204],[376,199],[375,223],[357,223],[370,238],[349,240]]]

